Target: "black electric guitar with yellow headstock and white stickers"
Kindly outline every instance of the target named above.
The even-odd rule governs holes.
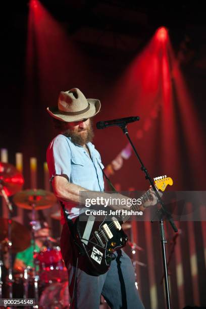
[[[157,177],[154,180],[156,188],[161,191],[165,191],[167,185],[173,184],[172,178],[166,176]],[[149,199],[151,190],[152,188],[140,197],[142,203]],[[131,210],[140,211],[140,206],[132,205]],[[102,220],[99,220],[98,216],[86,216],[84,213],[77,217],[74,235],[85,254],[85,263],[91,275],[105,274],[113,260],[113,252],[126,245],[128,237],[122,229],[122,224],[129,218],[128,215],[105,215],[102,216]]]

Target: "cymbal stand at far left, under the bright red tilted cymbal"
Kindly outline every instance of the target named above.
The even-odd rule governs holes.
[[[0,194],[4,197],[7,207],[8,207],[8,253],[9,253],[9,277],[8,277],[8,286],[9,286],[9,298],[13,298],[13,275],[12,275],[12,204],[4,190],[3,185],[0,183]],[[1,263],[2,264],[2,263]],[[2,266],[1,266],[2,267]],[[2,269],[1,269],[2,273]],[[1,289],[2,292],[2,289]]]

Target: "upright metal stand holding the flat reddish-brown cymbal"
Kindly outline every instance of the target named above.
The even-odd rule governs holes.
[[[34,200],[35,200],[35,195],[34,195]],[[36,270],[36,250],[35,250],[35,228],[36,228],[36,216],[35,216],[35,207],[36,203],[32,203],[32,221],[30,222],[31,228],[32,228],[32,233],[31,233],[31,239],[33,242],[33,262],[34,262],[34,298],[35,298],[35,305],[33,308],[38,308],[38,281],[39,281],[39,276],[37,274]]]

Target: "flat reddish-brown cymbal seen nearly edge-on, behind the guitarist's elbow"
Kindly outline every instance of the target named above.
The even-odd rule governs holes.
[[[24,209],[35,210],[50,208],[57,202],[54,193],[42,189],[27,189],[15,194],[14,203]]]

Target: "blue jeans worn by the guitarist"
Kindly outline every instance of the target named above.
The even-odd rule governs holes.
[[[67,224],[61,235],[61,251],[69,274],[70,296],[73,294],[76,271],[77,249],[73,244]],[[91,276],[84,271],[84,256],[80,256],[77,266],[76,285],[72,302],[73,309],[98,309],[102,294],[112,309],[143,309],[135,286],[134,268],[129,256],[123,251],[115,252],[108,272]]]

